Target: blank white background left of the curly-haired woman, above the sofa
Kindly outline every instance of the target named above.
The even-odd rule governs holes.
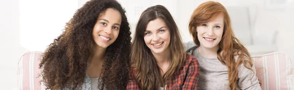
[[[44,51],[72,18],[77,3],[77,0],[0,0],[0,90],[17,89],[21,56],[27,51]]]

